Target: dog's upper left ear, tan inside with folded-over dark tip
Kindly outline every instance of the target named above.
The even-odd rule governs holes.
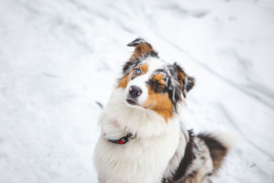
[[[136,38],[136,40],[130,42],[127,46],[135,47],[132,58],[142,59],[147,56],[158,57],[157,51],[155,51],[149,42],[145,41],[143,38]]]

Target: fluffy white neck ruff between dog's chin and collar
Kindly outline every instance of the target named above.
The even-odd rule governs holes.
[[[116,88],[100,115],[99,124],[106,138],[117,139],[131,133],[136,138],[161,136],[178,127],[178,114],[168,122],[153,110],[132,108],[125,103],[122,88]]]

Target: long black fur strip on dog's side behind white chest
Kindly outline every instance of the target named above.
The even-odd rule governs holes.
[[[186,145],[186,149],[184,152],[184,157],[182,158],[181,162],[179,163],[179,167],[175,171],[175,173],[172,175],[169,179],[162,179],[162,182],[164,183],[171,183],[171,182],[177,182],[178,180],[181,180],[182,178],[186,177],[186,171],[190,164],[192,164],[192,161],[195,160],[195,155],[193,154],[193,148],[197,148],[194,143],[194,134],[192,130],[188,130],[189,134],[189,141]],[[195,176],[196,172],[193,171],[191,175]],[[190,176],[190,175],[188,175]]]

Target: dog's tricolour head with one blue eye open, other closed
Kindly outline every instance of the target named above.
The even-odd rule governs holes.
[[[132,108],[153,110],[168,121],[195,85],[195,79],[176,62],[168,64],[160,59],[157,51],[142,38],[127,46],[135,49],[119,80],[118,88],[124,89],[125,102]]]

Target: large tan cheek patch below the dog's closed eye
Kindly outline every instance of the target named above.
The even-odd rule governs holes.
[[[155,93],[150,86],[148,87],[148,99],[143,103],[143,106],[152,106],[149,108],[150,110],[154,110],[158,114],[160,114],[166,122],[173,115],[173,103],[171,99],[169,99],[168,93]]]

